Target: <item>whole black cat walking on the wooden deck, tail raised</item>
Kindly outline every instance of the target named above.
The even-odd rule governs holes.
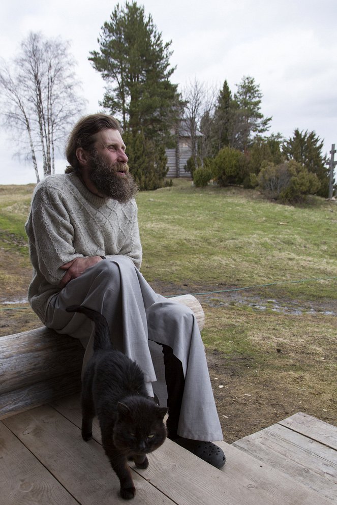
[[[120,482],[120,495],[135,495],[128,460],[138,468],[147,468],[146,454],[164,442],[163,423],[167,408],[147,398],[144,375],[125,354],[113,350],[107,322],[99,312],[80,305],[67,307],[81,312],[95,322],[94,354],[82,382],[82,437],[93,437],[92,425],[97,415],[102,444]]]

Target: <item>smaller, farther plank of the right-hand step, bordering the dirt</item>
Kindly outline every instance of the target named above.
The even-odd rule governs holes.
[[[323,443],[337,451],[337,427],[320,421],[312,415],[297,412],[289,418],[279,421],[279,424]]]

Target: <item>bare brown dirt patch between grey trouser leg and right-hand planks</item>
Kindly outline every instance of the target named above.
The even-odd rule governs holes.
[[[321,384],[322,391],[318,393],[316,388],[313,393],[291,374],[282,380],[258,371],[248,374],[250,360],[237,363],[222,358],[217,352],[207,352],[207,362],[224,439],[228,443],[296,412],[336,424],[336,403],[322,401],[324,384]]]

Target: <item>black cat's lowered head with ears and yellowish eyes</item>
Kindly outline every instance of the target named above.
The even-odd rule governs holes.
[[[167,408],[138,396],[118,402],[117,411],[115,447],[130,454],[148,454],[162,445],[167,434],[163,422]]]

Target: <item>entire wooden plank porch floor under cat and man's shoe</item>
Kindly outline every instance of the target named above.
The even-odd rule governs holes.
[[[0,421],[1,505],[126,503],[100,444],[80,432],[79,395]],[[149,467],[132,466],[142,505],[337,503],[337,428],[297,413],[229,445],[222,470],[166,440]]]

